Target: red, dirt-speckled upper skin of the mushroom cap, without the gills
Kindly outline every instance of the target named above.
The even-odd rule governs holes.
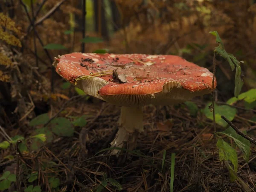
[[[118,75],[125,76],[125,84],[113,81],[112,75],[99,76],[109,83],[99,90],[100,95],[133,94],[132,89],[138,86],[140,93],[134,94],[153,94],[161,91],[163,85],[170,81],[180,83],[183,89],[191,92],[213,90],[212,73],[209,70],[176,55],[75,52],[59,56],[55,62],[57,73],[70,82],[80,76],[106,70],[116,70]],[[215,82],[215,87],[216,84]],[[122,87],[122,93],[118,87]],[[130,90],[125,93],[128,89]]]

